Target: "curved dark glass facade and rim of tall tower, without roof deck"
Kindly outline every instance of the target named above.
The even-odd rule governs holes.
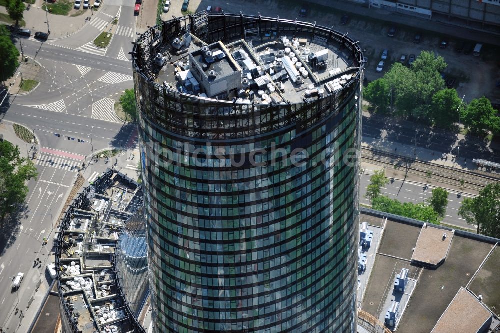
[[[209,19],[207,42],[241,36],[240,15]],[[362,57],[324,27],[244,19]],[[152,28],[134,56],[180,26]],[[133,64],[154,331],[354,332],[358,164],[346,156],[360,149],[362,68],[314,102],[250,107],[164,89]]]

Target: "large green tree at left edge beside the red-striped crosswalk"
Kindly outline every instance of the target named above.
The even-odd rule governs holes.
[[[5,217],[15,212],[26,199],[26,181],[37,176],[33,162],[20,157],[18,146],[0,142],[0,228]]]

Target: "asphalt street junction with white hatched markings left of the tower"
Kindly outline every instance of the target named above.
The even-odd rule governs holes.
[[[32,160],[39,176],[36,181],[28,182],[27,209],[14,227],[0,259],[0,327],[3,329],[18,329],[23,318],[20,311],[26,311],[37,284],[50,281],[45,267],[53,260],[49,257],[53,225],[78,168],[87,161],[85,177],[89,180],[100,172],[88,164],[92,146],[94,152],[108,147],[135,146],[135,125],[124,124],[114,113],[115,101],[125,89],[133,87],[127,56],[135,36],[135,17],[132,5],[107,3],[109,6],[91,16],[90,24],[73,36],[55,42],[22,39],[24,55],[42,67],[36,77],[40,84],[29,94],[10,95],[0,109],[0,121],[34,130],[39,144]],[[89,47],[88,43],[106,29],[103,24],[109,24],[115,15],[119,21],[111,45],[106,49]],[[20,40],[17,43],[20,48]],[[20,148],[32,156],[33,145],[21,144]],[[44,237],[48,239],[47,245],[43,245]],[[35,261],[37,258],[40,262]],[[24,273],[24,279],[20,288],[14,290],[11,277],[18,272]]]

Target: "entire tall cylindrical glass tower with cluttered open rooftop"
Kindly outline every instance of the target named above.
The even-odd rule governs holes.
[[[201,12],[132,57],[154,331],[354,332],[357,43]]]

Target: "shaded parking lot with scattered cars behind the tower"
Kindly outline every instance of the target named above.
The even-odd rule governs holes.
[[[486,96],[491,100],[500,99],[500,88],[495,87],[496,79],[500,78],[500,66],[498,58],[495,57],[493,47],[485,45],[481,57],[474,57],[471,53],[468,55],[455,52],[456,44],[460,41],[447,36],[439,36],[436,33],[427,31],[417,31],[412,28],[395,26],[396,32],[393,37],[388,36],[391,24],[384,21],[374,21],[370,18],[358,17],[349,14],[349,20],[346,25],[341,25],[340,20],[344,13],[332,8],[306,3],[307,14],[305,17],[299,17],[303,2],[292,1],[274,1],[274,0],[256,0],[246,2],[242,0],[233,0],[230,2],[216,0],[190,0],[188,10],[198,12],[204,10],[208,5],[220,6],[226,13],[258,14],[263,16],[275,17],[279,15],[283,19],[300,18],[303,21],[316,22],[327,27],[334,26],[336,30],[348,32],[353,39],[359,40],[363,49],[366,49],[365,56],[368,59],[366,64],[365,76],[368,80],[375,80],[383,75],[376,72],[376,66],[380,61],[380,55],[383,49],[388,49],[388,57],[385,62],[384,71],[390,68],[390,65],[399,60],[401,54],[409,56],[415,54],[418,56],[420,51],[434,51],[444,57],[448,63],[445,71],[446,79],[452,77],[455,79],[453,87],[458,91],[458,95],[466,95],[465,101],[473,98]],[[178,17],[183,15],[180,8],[182,0],[172,0],[168,13],[163,13],[163,19],[168,20],[172,15]],[[407,17],[408,20],[412,18]],[[413,43],[415,34],[421,34],[419,44]],[[439,48],[441,40],[448,41],[445,49]],[[475,45],[474,41],[469,41]],[[407,64],[407,61],[406,61]]]

